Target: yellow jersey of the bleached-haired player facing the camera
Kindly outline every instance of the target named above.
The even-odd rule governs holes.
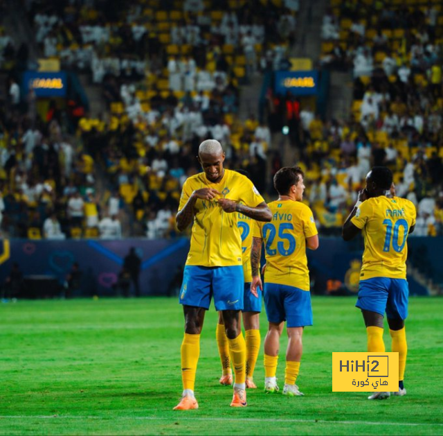
[[[264,202],[255,186],[236,171],[224,171],[219,183],[212,183],[205,173],[192,175],[183,184],[179,211],[183,209],[193,191],[202,188],[217,189],[220,198],[242,202],[256,207]],[[226,213],[214,200],[195,202],[195,217],[192,224],[191,247],[186,265],[233,266],[242,265],[242,236],[237,227],[238,213]]]

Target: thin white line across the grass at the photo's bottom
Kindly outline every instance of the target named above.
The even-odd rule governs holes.
[[[94,416],[73,416],[73,415],[0,415],[0,419],[96,419],[97,421],[109,421],[111,419],[128,419],[141,421],[239,421],[244,422],[287,422],[287,423],[305,423],[305,424],[364,424],[369,426],[443,426],[443,423],[419,423],[419,422],[374,422],[374,421],[328,421],[327,419],[273,419],[273,418],[239,418],[229,417],[183,417],[172,415],[170,417],[94,417]]]

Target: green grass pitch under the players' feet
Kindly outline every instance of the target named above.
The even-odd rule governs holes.
[[[368,401],[332,392],[332,351],[365,351],[354,298],[314,297],[298,385],[304,397],[262,392],[260,353],[245,409],[230,387],[206,315],[195,393],[199,410],[174,412],[181,394],[183,315],[176,299],[19,301],[0,306],[0,433],[7,435],[354,435],[443,433],[443,299],[413,298],[406,324],[407,396]],[[262,315],[262,340],[266,332]],[[386,329],[387,332],[387,329]],[[390,338],[385,334],[387,349]],[[283,383],[282,340],[278,378]]]

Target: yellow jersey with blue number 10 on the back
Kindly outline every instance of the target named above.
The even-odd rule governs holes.
[[[381,195],[360,204],[351,223],[363,229],[365,239],[361,280],[406,279],[406,239],[416,215],[413,202],[405,198]]]

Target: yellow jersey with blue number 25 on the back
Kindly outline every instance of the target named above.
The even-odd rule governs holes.
[[[318,234],[312,211],[293,200],[277,200],[268,206],[271,223],[257,223],[253,231],[253,236],[264,240],[264,281],[309,290],[306,238]]]

